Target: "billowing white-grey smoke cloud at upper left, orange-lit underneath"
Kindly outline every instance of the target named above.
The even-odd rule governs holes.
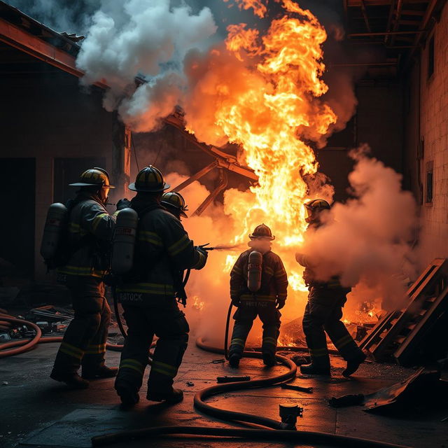
[[[109,85],[108,111],[118,109],[136,131],[153,130],[179,103],[185,55],[205,50],[215,32],[209,8],[193,14],[186,3],[172,6],[169,0],[103,0],[76,64],[86,85]],[[136,76],[148,82],[137,87]]]

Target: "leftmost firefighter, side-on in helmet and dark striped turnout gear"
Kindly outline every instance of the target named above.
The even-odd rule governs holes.
[[[70,186],[79,190],[67,204],[66,263],[58,268],[57,279],[69,288],[75,315],[66,329],[50,377],[72,387],[86,388],[89,379],[115,377],[118,370],[104,365],[111,309],[104,297],[103,277],[109,267],[108,251],[116,223],[116,214],[109,215],[105,206],[109,189],[114,187],[106,170],[98,167],[87,169]],[[117,211],[128,204],[125,199],[118,201]]]

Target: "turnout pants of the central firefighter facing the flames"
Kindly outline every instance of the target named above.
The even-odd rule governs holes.
[[[277,338],[280,334],[280,311],[276,309],[274,303],[241,301],[233,315],[235,326],[230,341],[229,356],[233,354],[242,356],[246,339],[257,316],[263,323],[262,353],[268,356],[275,355]]]

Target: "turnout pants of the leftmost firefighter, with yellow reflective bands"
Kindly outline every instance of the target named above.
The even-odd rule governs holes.
[[[75,316],[57,351],[53,372],[97,372],[104,365],[111,309],[101,279],[76,276],[66,281]]]

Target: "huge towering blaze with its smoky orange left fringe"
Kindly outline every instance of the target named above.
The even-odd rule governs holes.
[[[257,6],[264,6],[259,1],[243,3],[253,7],[255,14]],[[202,70],[204,103],[214,102],[209,127],[244,148],[245,162],[259,179],[251,193],[230,190],[225,194],[225,212],[237,223],[231,242],[244,241],[255,225],[269,225],[276,235],[276,251],[284,255],[291,288],[303,291],[302,269],[291,248],[302,244],[307,228],[303,203],[309,193],[303,176],[316,173],[318,165],[301,137],[325,134],[336,116],[319,98],[328,90],[321,79],[325,29],[297,3],[283,0],[282,6],[283,16],[272,20],[265,34],[244,23],[230,25],[227,54],[214,48],[206,68],[201,69],[198,61],[191,67]],[[209,79],[207,87],[204,79]],[[186,109],[189,128],[200,139],[209,140],[204,132],[207,126],[189,118],[188,105]]]

